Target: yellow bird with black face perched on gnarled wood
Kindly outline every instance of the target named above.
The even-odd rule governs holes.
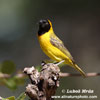
[[[85,73],[75,63],[68,49],[55,35],[50,20],[39,21],[38,40],[41,49],[49,58],[57,62],[64,61],[64,63],[75,68],[85,77]]]

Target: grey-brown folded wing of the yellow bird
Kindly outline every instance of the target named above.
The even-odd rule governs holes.
[[[60,49],[66,56],[68,56],[73,62],[73,57],[71,56],[68,49],[64,46],[63,42],[54,34],[50,37],[50,42],[53,46]]]

